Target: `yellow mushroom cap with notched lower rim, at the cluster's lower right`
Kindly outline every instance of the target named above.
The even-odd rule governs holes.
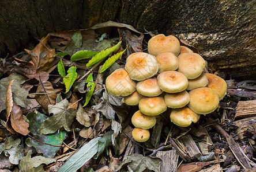
[[[192,122],[198,122],[200,115],[190,110],[189,107],[183,107],[172,110],[170,118],[177,126],[187,127],[190,126]]]

